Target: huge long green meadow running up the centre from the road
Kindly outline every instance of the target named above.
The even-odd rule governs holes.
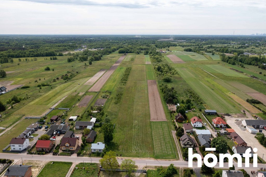
[[[115,125],[118,153],[128,157],[153,157],[146,66],[133,65]],[[116,151],[117,152],[117,151]]]

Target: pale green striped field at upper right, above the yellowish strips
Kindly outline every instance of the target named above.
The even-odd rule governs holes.
[[[204,69],[205,71],[211,74],[220,73],[220,74],[224,74],[226,76],[232,76],[232,77],[247,77],[243,74],[240,74],[234,70],[228,69],[221,65],[202,65],[200,66],[200,68]]]

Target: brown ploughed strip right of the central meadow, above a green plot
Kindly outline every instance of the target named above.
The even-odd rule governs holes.
[[[163,104],[157,88],[156,80],[148,81],[149,108],[151,121],[167,121],[164,113]]]

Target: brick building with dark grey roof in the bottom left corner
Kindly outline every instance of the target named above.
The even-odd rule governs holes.
[[[23,177],[31,177],[32,165],[11,165],[7,168],[5,176],[23,176]]]

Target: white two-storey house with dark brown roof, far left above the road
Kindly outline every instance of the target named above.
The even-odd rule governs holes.
[[[28,138],[12,138],[10,141],[10,150],[11,151],[24,151],[30,146]]]

